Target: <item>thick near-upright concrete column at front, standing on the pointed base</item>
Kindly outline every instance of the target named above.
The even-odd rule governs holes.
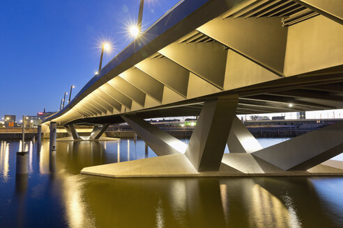
[[[238,97],[205,101],[185,155],[198,171],[218,171]]]

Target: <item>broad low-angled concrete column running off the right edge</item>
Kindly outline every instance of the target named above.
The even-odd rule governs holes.
[[[343,152],[343,122],[252,153],[282,170],[308,170]]]

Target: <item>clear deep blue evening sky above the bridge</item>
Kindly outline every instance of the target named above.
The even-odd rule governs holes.
[[[145,0],[148,27],[178,0]],[[139,0],[1,0],[0,117],[56,111],[93,77],[99,40],[112,40],[105,65],[131,41],[125,24],[137,20]],[[68,99],[68,98],[67,98]]]

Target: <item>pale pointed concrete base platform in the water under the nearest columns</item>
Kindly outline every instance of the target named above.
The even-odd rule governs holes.
[[[224,154],[218,172],[197,172],[184,154],[172,154],[96,165],[83,168],[81,173],[102,177],[343,176],[343,161],[327,161],[307,171],[284,171],[251,154]]]

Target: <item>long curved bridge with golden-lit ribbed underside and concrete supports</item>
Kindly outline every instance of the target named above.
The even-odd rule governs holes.
[[[263,149],[236,117],[343,108],[342,24],[343,1],[181,1],[45,124],[75,140],[93,124],[94,140],[127,122],[158,155],[85,174],[342,174],[323,163],[343,152],[342,122]],[[144,121],[178,116],[199,116],[188,145]]]

